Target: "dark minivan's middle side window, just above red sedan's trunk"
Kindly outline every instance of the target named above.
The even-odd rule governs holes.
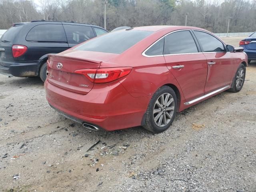
[[[63,26],[67,35],[68,43],[79,44],[95,37],[92,27],[81,25]]]

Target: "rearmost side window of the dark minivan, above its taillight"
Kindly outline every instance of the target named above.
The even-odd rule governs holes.
[[[62,24],[37,25],[28,32],[26,40],[36,42],[67,42]]]

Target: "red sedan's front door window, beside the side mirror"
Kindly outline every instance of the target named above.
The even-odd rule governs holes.
[[[224,46],[220,40],[214,36],[200,31],[194,31],[196,38],[200,42],[204,52],[224,52]]]

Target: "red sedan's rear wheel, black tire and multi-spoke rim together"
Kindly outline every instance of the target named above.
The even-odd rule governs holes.
[[[168,86],[159,88],[150,100],[146,112],[144,128],[160,133],[172,124],[178,108],[174,90]]]

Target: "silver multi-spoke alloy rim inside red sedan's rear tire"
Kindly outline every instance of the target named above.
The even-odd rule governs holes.
[[[174,99],[170,93],[164,93],[158,97],[154,104],[154,122],[159,127],[166,126],[174,113]]]

